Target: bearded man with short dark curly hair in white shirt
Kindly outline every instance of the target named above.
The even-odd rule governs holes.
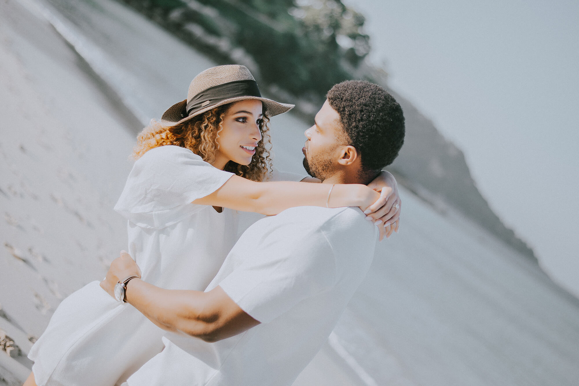
[[[331,184],[368,183],[395,159],[404,115],[382,87],[347,81],[328,92],[305,134],[304,166],[328,184],[329,199]],[[377,236],[359,208],[287,209],[245,231],[206,292],[147,284],[124,253],[103,288],[112,295],[135,276],[126,301],[170,331],[127,383],[291,385],[365,277]]]

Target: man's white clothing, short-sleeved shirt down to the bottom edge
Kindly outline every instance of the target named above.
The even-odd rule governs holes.
[[[358,208],[299,207],[259,220],[207,291],[221,286],[262,324],[216,343],[167,334],[128,384],[291,385],[365,277],[377,236]]]

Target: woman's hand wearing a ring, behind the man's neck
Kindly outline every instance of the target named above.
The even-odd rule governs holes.
[[[380,192],[380,198],[365,211],[380,230],[380,240],[387,238],[400,226],[402,201],[398,195],[396,179],[390,172],[381,171],[378,177],[368,184],[369,188]]]

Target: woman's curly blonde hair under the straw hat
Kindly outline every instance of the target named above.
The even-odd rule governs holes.
[[[204,112],[184,123],[167,126],[157,120],[152,120],[137,136],[137,145],[133,148],[133,159],[137,160],[148,150],[164,145],[181,146],[191,150],[207,163],[215,161],[215,153],[219,149],[217,138],[223,130],[223,116],[231,104],[216,107]],[[251,181],[265,181],[272,172],[270,150],[272,148],[269,135],[269,117],[263,113],[259,122],[261,141],[255,148],[255,154],[248,165],[229,161],[223,170],[232,172]]]

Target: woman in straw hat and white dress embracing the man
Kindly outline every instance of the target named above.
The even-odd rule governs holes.
[[[258,182],[269,174],[268,116],[293,105],[262,98],[239,65],[207,69],[188,99],[138,137],[133,170],[115,209],[125,216],[129,253],[142,278],[203,291],[237,239],[236,212],[273,215],[316,205],[367,209],[364,185]],[[203,204],[201,204],[201,202]],[[162,350],[163,330],[94,281],[67,297],[30,351],[25,385],[120,384]]]

